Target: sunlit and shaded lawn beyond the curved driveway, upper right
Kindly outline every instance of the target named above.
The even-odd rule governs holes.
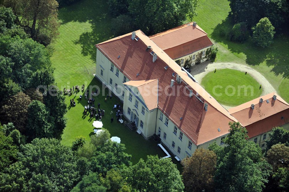
[[[214,41],[219,51],[216,62],[233,62],[249,65],[259,71],[273,85],[275,90],[289,102],[289,34],[276,35],[268,48],[255,46],[252,38],[244,43],[231,42],[219,35],[221,29],[229,31],[233,22],[229,16],[227,0],[200,0],[198,16],[194,21],[202,27]]]

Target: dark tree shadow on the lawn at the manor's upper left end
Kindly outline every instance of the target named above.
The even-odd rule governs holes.
[[[110,30],[111,17],[105,0],[84,0],[62,8],[59,19],[63,24],[71,21],[91,24],[91,31],[82,33],[74,44],[80,44],[82,55],[89,55],[92,60],[95,60],[96,55],[94,45],[113,37]]]

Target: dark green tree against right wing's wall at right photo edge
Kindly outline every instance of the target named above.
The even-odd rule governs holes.
[[[268,141],[266,140],[266,150],[271,149],[273,145],[278,143],[285,144],[287,147],[289,147],[289,131],[283,127],[274,127],[272,132],[269,133],[269,137],[270,139]]]

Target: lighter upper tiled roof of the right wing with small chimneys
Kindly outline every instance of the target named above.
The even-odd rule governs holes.
[[[276,100],[273,99],[273,95],[276,95]],[[260,98],[263,102],[259,102]],[[267,101],[269,103],[267,103]],[[254,104],[254,109],[251,108],[251,104]],[[231,115],[233,115],[243,125],[247,126],[260,120],[264,120],[276,113],[289,109],[289,104],[284,101],[279,95],[270,93],[249,102],[243,103],[237,107],[229,109]],[[271,119],[271,118],[270,118]],[[281,119],[279,120],[281,121]],[[271,127],[272,128],[272,127]],[[265,131],[266,132],[266,131]]]

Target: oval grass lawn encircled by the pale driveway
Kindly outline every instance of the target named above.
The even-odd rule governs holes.
[[[259,83],[244,72],[219,69],[203,77],[201,85],[221,104],[236,106],[257,98],[262,93]]]

